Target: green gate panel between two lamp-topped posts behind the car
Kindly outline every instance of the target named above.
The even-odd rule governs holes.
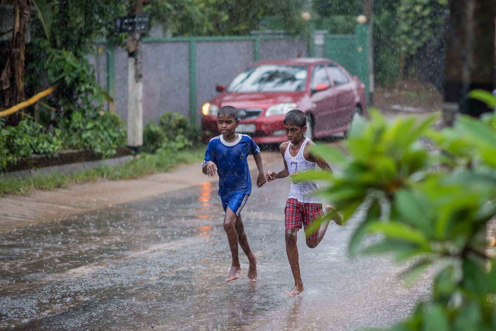
[[[327,35],[325,36],[325,53],[329,60],[336,61],[351,74],[357,74],[356,47],[354,35]]]

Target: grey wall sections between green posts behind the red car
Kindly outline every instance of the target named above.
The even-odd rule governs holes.
[[[97,57],[90,57],[97,79],[107,87],[105,45],[97,45]],[[102,47],[102,52],[98,52]],[[149,42],[143,51],[143,123],[171,111],[189,116],[189,44],[181,42]],[[116,113],[127,118],[127,52],[116,48]],[[307,56],[307,43],[301,40],[260,41],[260,60]],[[196,109],[217,92],[215,85],[229,82],[253,62],[253,41],[196,42]]]

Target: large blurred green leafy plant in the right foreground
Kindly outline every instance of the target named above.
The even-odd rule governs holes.
[[[489,93],[483,98],[496,104]],[[461,115],[440,132],[429,129],[433,120],[388,123],[372,111],[369,123],[354,122],[345,142],[348,157],[327,146],[314,151],[343,169],[320,174],[329,183],[321,194],[345,219],[365,212],[350,242],[352,254],[391,252],[410,263],[409,281],[433,266],[432,304],[420,304],[392,330],[493,330],[496,261],[486,255],[486,223],[496,216],[496,115],[482,121]],[[374,233],[383,240],[364,247],[363,239]]]

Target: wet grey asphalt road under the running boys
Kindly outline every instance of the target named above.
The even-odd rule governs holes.
[[[274,168],[275,169],[275,168]],[[253,186],[243,209],[258,281],[226,283],[231,258],[217,185],[0,233],[1,330],[356,330],[390,326],[429,298],[387,256],[349,258],[356,221],[311,250],[299,232],[305,293],[284,244],[288,182]],[[240,254],[242,250],[240,249]]]

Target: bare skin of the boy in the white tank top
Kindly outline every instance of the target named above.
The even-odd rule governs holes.
[[[299,127],[291,123],[285,123],[284,131],[286,132],[286,136],[288,137],[289,140],[287,142],[283,142],[279,147],[281,151],[281,155],[284,160],[284,169],[278,172],[268,170],[267,173],[265,174],[265,179],[267,180],[267,182],[272,182],[278,178],[285,178],[291,176],[291,181],[296,184],[299,183],[300,180],[293,178],[293,175],[299,174],[300,172],[297,171],[292,174],[289,173],[288,164],[286,163],[284,154],[286,153],[287,148],[289,148],[289,153],[291,154],[291,156],[295,157],[298,154],[303,142],[305,141],[305,132],[307,132],[307,126]],[[305,157],[307,161],[316,162],[317,165],[320,167],[320,169],[332,173],[332,169],[327,163],[327,161],[320,159],[319,157],[311,154],[310,149],[312,146],[315,146],[315,144],[311,140],[307,142],[307,144],[305,145],[305,149],[303,151],[303,157]],[[332,206],[330,205],[326,207],[326,212],[331,212],[333,210],[334,208],[332,208]],[[338,221],[336,221],[336,223],[340,224],[338,223]],[[308,238],[306,239],[306,243],[308,247],[310,248],[317,247],[317,245],[324,238],[325,231],[327,230],[328,225],[329,225],[329,220],[323,221],[320,224],[317,240],[309,240]],[[300,272],[300,263],[298,261],[299,260],[298,247],[296,246],[298,230],[299,230],[298,228],[286,229],[286,234],[285,234],[286,254],[288,256],[289,265],[291,266],[293,278],[295,279],[295,287],[293,287],[293,289],[285,293],[285,295],[288,297],[296,296],[305,290],[305,288],[303,287],[303,281]]]

